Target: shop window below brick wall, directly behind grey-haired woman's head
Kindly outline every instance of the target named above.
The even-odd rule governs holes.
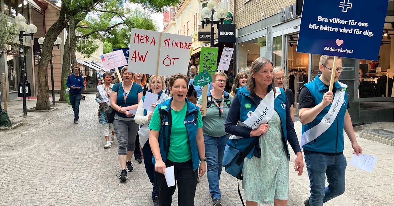
[[[266,57],[266,40],[267,37],[264,36],[240,43],[238,47],[238,72],[249,72],[249,67],[252,65],[253,61],[259,57]]]

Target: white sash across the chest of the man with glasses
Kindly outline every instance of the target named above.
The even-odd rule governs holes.
[[[333,103],[331,104],[330,109],[328,110],[328,113],[323,117],[322,121],[320,123],[312,128],[310,128],[308,131],[304,132],[301,136],[301,148],[310,143],[311,141],[315,140],[318,138],[320,135],[322,135],[330,126],[333,124],[335,121],[336,116],[339,113],[339,110],[342,107],[342,104],[344,103],[345,99],[345,92],[346,92],[346,84],[343,84],[341,82],[338,82],[343,88],[336,89],[335,96],[333,99]]]

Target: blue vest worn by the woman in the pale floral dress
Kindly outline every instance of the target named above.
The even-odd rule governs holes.
[[[273,85],[269,86],[269,91],[271,89],[275,89]],[[282,122],[282,140],[284,141],[284,145],[286,145],[287,149],[287,155],[288,158],[290,159],[290,153],[289,153],[289,148],[287,145],[287,130],[286,130],[286,109],[288,109],[288,106],[286,106],[287,100],[286,100],[286,93],[282,88],[280,88],[281,94],[275,98],[275,103],[274,103],[274,108],[275,111],[279,114],[279,117]],[[240,122],[245,121],[248,118],[248,113],[255,111],[257,106],[260,104],[260,102],[255,102],[255,97],[251,95],[250,91],[246,89],[245,86],[238,88],[237,89],[237,95],[238,99],[240,100],[241,108],[240,108]],[[243,151],[245,148],[250,145],[250,143],[255,139],[255,137],[243,137],[241,139],[229,139],[228,144],[231,147],[238,148],[239,150]],[[259,145],[256,145],[256,147],[260,147]],[[256,148],[255,147],[255,148]],[[252,158],[253,152],[255,150],[253,148],[251,152],[247,155],[248,158]],[[256,157],[260,157],[260,154],[255,154]]]

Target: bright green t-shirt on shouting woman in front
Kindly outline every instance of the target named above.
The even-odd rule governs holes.
[[[185,117],[188,110],[187,104],[179,111],[171,109],[171,134],[170,134],[170,151],[167,159],[173,162],[185,162],[191,159],[191,149],[188,131],[186,130]],[[200,111],[197,118],[198,128],[203,127],[203,119]],[[158,107],[154,109],[149,129],[160,131],[160,113]]]

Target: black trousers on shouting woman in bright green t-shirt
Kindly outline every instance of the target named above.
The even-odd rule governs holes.
[[[168,187],[164,174],[156,172],[157,188],[159,191],[159,205],[171,206],[172,196],[178,185],[178,206],[194,206],[194,196],[197,187],[197,171],[193,171],[191,160],[177,163],[165,161],[165,167],[174,165],[175,186]]]

